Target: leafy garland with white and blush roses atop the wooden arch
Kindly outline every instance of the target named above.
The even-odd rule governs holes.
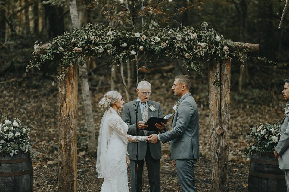
[[[73,33],[65,32],[55,37],[48,44],[36,41],[33,60],[27,66],[38,68],[53,60],[59,60],[59,77],[63,79],[67,68],[75,64],[78,58],[84,64],[85,58],[91,56],[108,57],[110,65],[118,65],[121,61],[136,59],[138,53],[153,55],[150,59],[163,57],[180,58],[188,70],[201,73],[200,62],[214,59],[231,59],[238,57],[242,62],[246,51],[238,52],[230,49],[231,40],[225,40],[223,35],[214,29],[208,29],[207,23],[182,29],[156,27],[144,33],[114,30],[102,24],[88,24]],[[265,61],[265,58],[259,58]]]

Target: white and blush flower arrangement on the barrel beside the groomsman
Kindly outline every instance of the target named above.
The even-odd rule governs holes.
[[[246,138],[253,138],[255,143],[245,149],[245,158],[249,160],[253,150],[257,151],[259,154],[262,152],[274,152],[280,139],[280,124],[281,122],[279,121],[273,125],[266,122],[259,127],[250,128],[251,132],[250,134],[247,134]]]

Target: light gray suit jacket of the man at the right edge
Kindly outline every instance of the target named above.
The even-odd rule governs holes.
[[[281,123],[281,137],[275,149],[280,155],[279,168],[289,169],[289,117],[285,116]]]

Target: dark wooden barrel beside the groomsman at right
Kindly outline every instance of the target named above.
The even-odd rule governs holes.
[[[252,152],[249,178],[249,192],[287,192],[285,172],[279,169],[274,153]]]

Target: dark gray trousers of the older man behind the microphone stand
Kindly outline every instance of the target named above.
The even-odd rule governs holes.
[[[142,172],[144,167],[144,160],[148,168],[148,181],[150,184],[150,192],[160,192],[160,159],[154,159],[151,156],[149,145],[143,160],[138,160],[138,191],[136,191],[136,161],[130,159],[131,172],[131,192],[142,192]]]

